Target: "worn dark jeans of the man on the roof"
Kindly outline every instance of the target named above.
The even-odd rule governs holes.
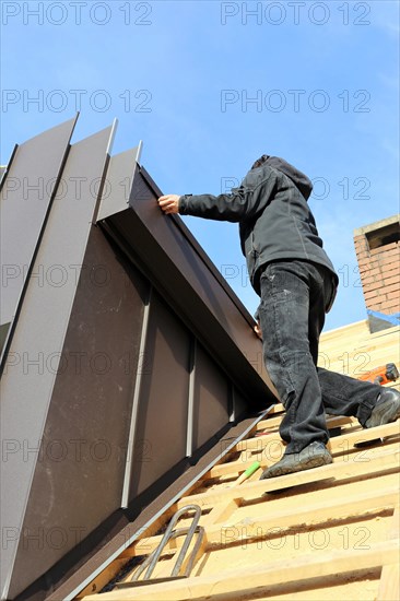
[[[329,270],[308,261],[277,261],[261,273],[263,358],[285,408],[280,427],[285,453],[328,441],[325,413],[354,415],[365,425],[381,391],[378,385],[316,366],[332,292]]]

